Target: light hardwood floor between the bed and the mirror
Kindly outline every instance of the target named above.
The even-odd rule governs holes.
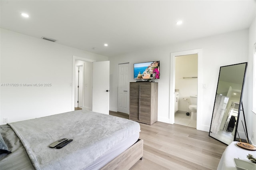
[[[216,170],[226,148],[208,132],[191,127],[156,122],[140,123],[140,128],[143,159],[130,170]]]

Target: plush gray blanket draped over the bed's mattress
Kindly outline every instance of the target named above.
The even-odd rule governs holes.
[[[84,169],[140,131],[137,122],[84,110],[8,125],[22,141],[37,170]],[[49,147],[61,138],[73,141],[61,149]]]

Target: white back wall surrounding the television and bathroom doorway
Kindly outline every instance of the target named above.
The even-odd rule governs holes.
[[[203,89],[202,123],[199,130],[208,131],[212,118],[218,74],[220,66],[248,61],[248,29],[218,36],[206,37],[188,42],[167,45],[110,58],[110,110],[117,110],[118,63],[130,62],[129,81],[132,77],[133,63],[160,60],[160,79],[158,82],[158,120],[169,122],[170,94],[170,53],[191,49],[203,50]],[[247,97],[247,94],[245,94]]]

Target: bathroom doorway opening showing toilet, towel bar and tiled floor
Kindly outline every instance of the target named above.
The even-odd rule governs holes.
[[[198,54],[175,56],[174,123],[196,128]]]

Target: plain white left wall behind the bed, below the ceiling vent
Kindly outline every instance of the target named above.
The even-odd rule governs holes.
[[[1,29],[1,82],[50,87],[0,87],[0,124],[72,110],[72,56],[108,57]]]

